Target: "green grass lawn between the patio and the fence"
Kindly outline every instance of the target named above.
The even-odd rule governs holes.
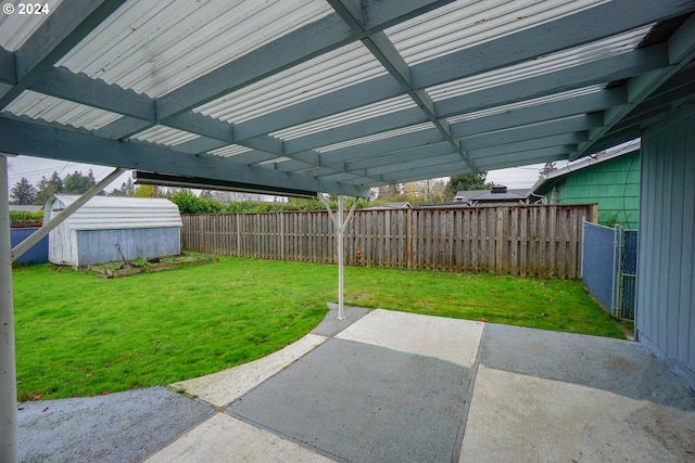
[[[165,385],[266,356],[337,300],[337,267],[220,258],[103,280],[13,271],[20,400]],[[578,281],[345,268],[345,301],[623,337]]]

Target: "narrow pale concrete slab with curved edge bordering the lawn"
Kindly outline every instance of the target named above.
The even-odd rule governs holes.
[[[326,336],[309,333],[298,342],[262,359],[206,376],[174,383],[169,387],[184,389],[186,394],[195,396],[213,406],[225,407],[326,339],[328,339]]]

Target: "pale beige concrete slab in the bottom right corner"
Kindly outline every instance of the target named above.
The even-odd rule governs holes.
[[[685,462],[695,412],[480,365],[459,462]]]

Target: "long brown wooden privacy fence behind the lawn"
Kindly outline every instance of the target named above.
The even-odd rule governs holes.
[[[345,265],[581,276],[582,218],[596,205],[521,205],[356,210]],[[182,216],[186,249],[336,263],[325,211]]]

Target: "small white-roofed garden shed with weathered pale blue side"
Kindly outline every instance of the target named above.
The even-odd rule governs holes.
[[[45,221],[79,196],[56,194]],[[49,234],[49,260],[83,267],[140,257],[180,254],[181,217],[164,198],[94,196]]]

